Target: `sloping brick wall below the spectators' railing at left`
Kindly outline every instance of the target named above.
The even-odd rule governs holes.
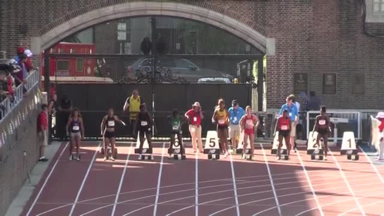
[[[6,213],[27,177],[24,160],[28,169],[31,170],[38,159],[36,124],[40,104],[34,104],[35,96],[38,94],[38,86],[36,86],[0,125],[2,139],[0,142],[2,144],[0,145],[0,215]],[[24,119],[23,113],[25,113]],[[16,129],[13,125],[15,120],[18,121]],[[24,151],[27,153],[25,158]]]

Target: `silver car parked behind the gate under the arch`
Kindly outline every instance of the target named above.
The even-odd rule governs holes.
[[[184,58],[160,58],[158,65],[169,68],[173,76],[179,76],[187,80],[187,82],[197,82],[200,78],[211,77],[211,78],[223,78],[226,77],[232,80],[232,76],[222,73],[221,71],[199,68],[191,61]],[[152,58],[139,58],[133,65],[128,67],[128,74],[133,78],[135,72],[145,71],[146,68],[152,66]],[[163,71],[165,72],[165,71]]]

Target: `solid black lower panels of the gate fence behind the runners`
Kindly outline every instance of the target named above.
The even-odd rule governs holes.
[[[204,111],[202,121],[202,136],[208,130],[215,130],[211,118],[218,98],[223,98],[227,106],[233,99],[237,99],[240,106],[251,104],[250,84],[58,84],[58,103],[64,95],[72,100],[73,107],[79,108],[84,120],[85,136],[88,138],[100,137],[100,124],[109,107],[113,107],[115,114],[123,121],[129,122],[129,113],[122,108],[132,90],[139,90],[139,95],[147,104],[148,110],[154,116],[154,135],[168,137],[170,123],[167,116],[177,109],[180,115],[191,108],[195,101],[199,101]],[[68,115],[56,113],[56,123],[53,130],[55,138],[63,138]],[[132,128],[116,126],[116,136],[120,138],[131,137]],[[188,125],[182,127],[184,136],[189,134]]]

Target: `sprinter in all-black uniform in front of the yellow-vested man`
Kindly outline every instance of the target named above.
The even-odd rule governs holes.
[[[134,126],[134,134],[136,134],[136,130],[139,132],[139,140],[140,140],[140,146],[139,146],[139,158],[137,160],[141,160],[141,151],[143,150],[144,145],[144,134],[148,141],[149,149],[152,150],[152,116],[147,111],[147,106],[145,103],[140,105],[140,112],[137,113],[136,116],[136,123]],[[153,155],[151,154],[151,160],[153,160]]]

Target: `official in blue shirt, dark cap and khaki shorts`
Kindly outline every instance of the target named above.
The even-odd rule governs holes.
[[[232,146],[237,148],[240,138],[240,119],[245,115],[245,111],[238,105],[237,100],[232,101],[232,107],[228,109],[229,113],[229,137],[232,140]]]

